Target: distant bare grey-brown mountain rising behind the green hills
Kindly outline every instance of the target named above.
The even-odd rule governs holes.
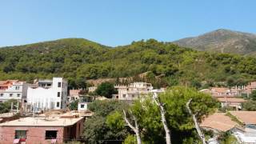
[[[192,38],[183,38],[174,43],[194,50],[232,54],[256,54],[256,35],[219,29]]]

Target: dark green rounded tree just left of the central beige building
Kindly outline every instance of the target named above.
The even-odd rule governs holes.
[[[110,82],[102,82],[97,89],[95,90],[95,93],[101,96],[104,96],[106,98],[112,98],[112,94],[116,94],[117,91],[114,90],[114,84]]]

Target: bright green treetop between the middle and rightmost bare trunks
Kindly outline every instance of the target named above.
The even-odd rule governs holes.
[[[178,130],[194,129],[194,122],[186,110],[186,102],[192,98],[190,109],[197,115],[198,122],[218,107],[218,102],[208,94],[197,90],[175,86],[166,93],[160,94],[161,101],[166,103],[166,117],[170,126]]]

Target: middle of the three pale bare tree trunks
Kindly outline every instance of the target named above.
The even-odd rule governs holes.
[[[171,144],[171,141],[170,141],[170,130],[169,130],[169,128],[167,126],[167,122],[166,122],[166,115],[165,115],[166,114],[166,110],[164,109],[162,102],[160,102],[159,99],[157,100],[157,98],[158,98],[158,94],[154,94],[153,95],[154,103],[156,105],[158,105],[159,108],[160,108],[162,125],[163,125],[163,128],[166,131],[166,144]]]

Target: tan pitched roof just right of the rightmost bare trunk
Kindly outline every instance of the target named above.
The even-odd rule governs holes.
[[[232,121],[225,113],[214,113],[206,117],[200,126],[219,131],[227,131],[234,128],[234,126],[238,126],[238,123]]]

